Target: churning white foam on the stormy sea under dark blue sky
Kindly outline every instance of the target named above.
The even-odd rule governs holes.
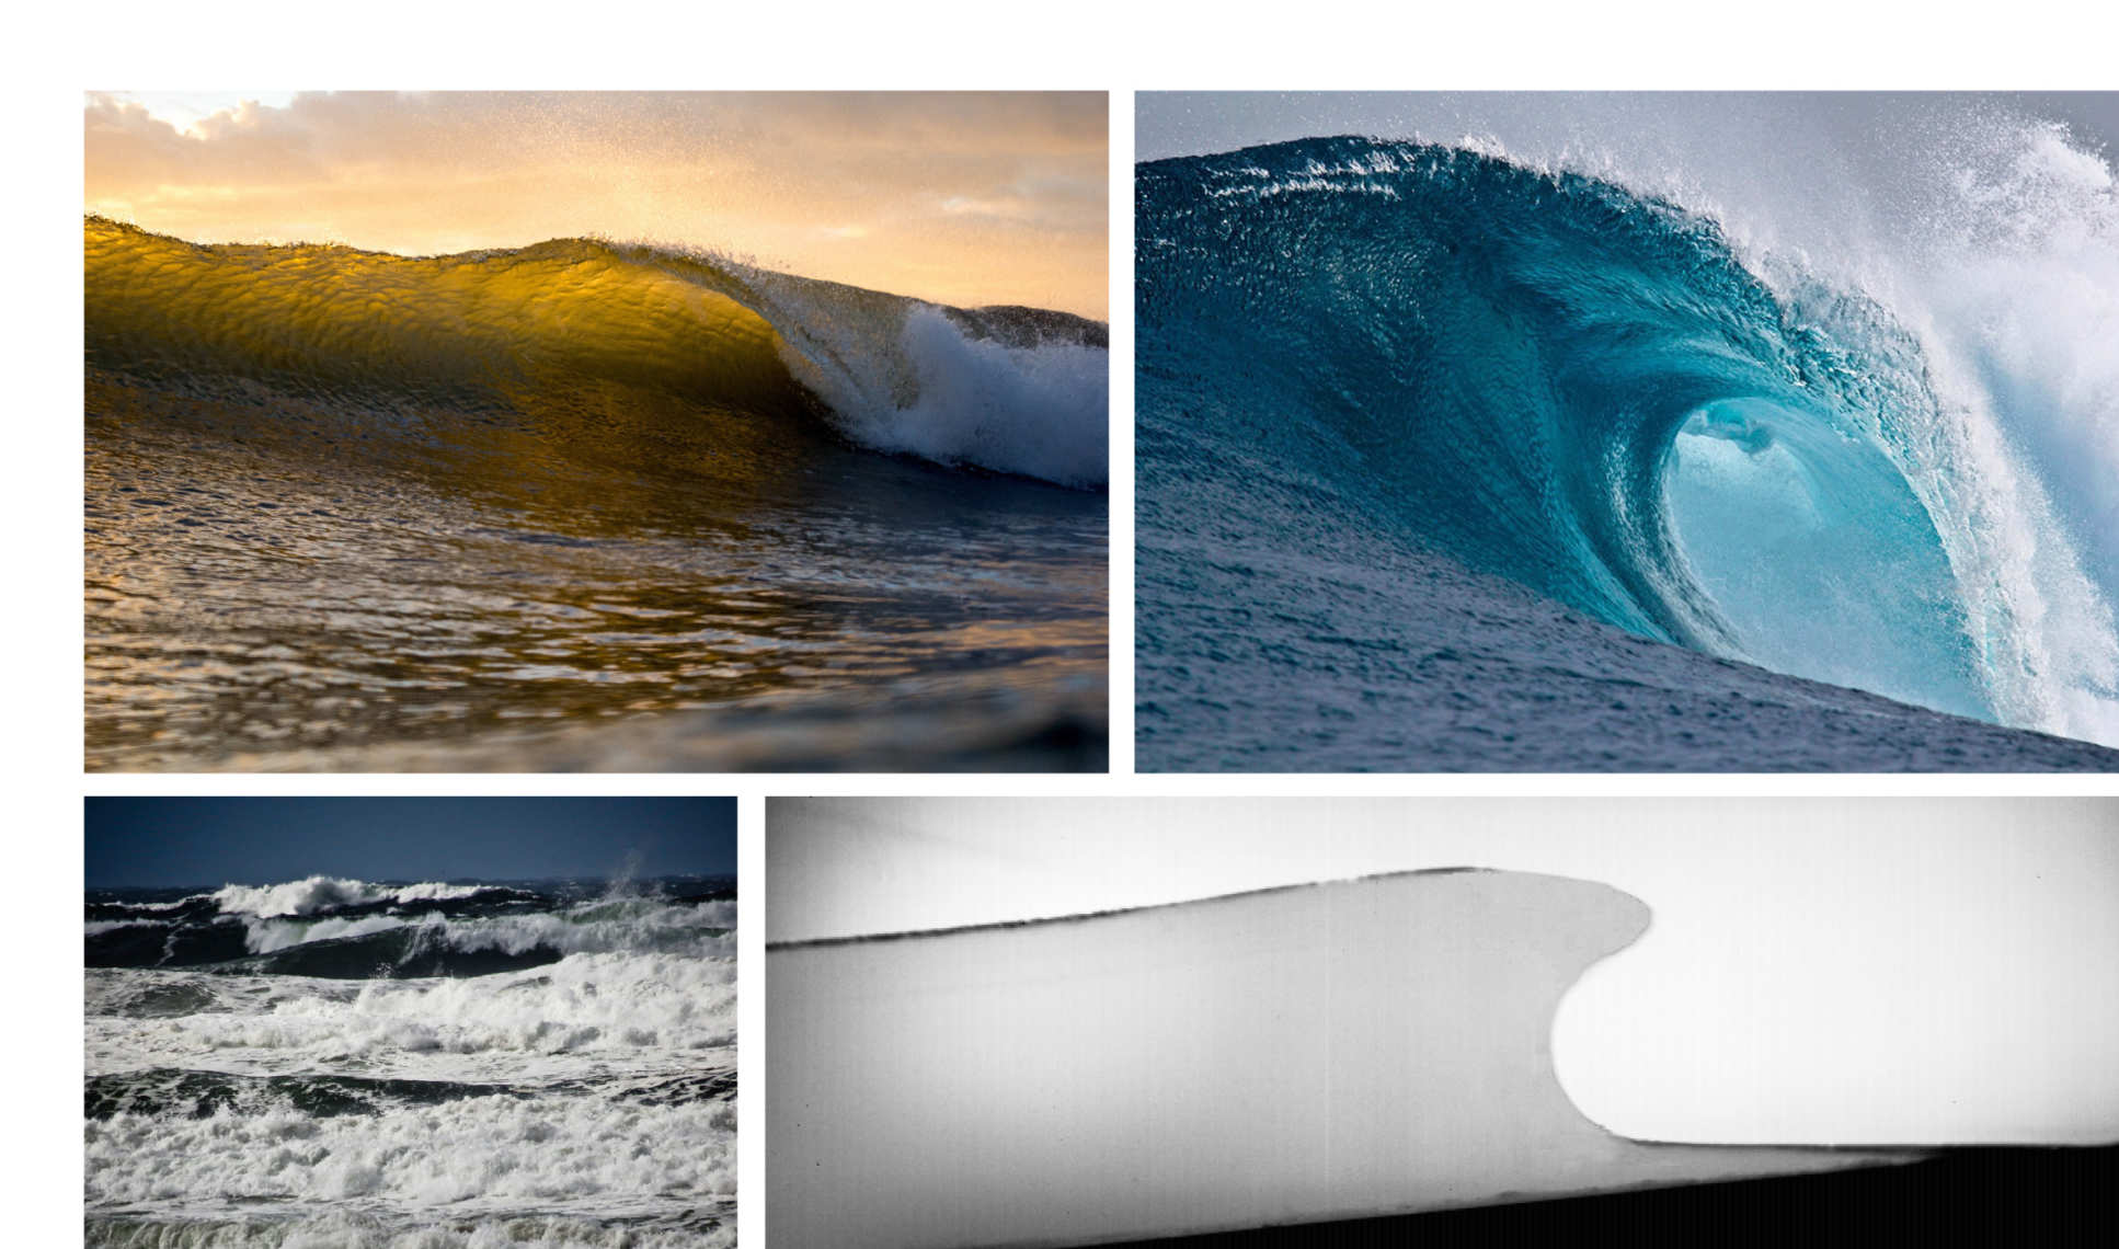
[[[449,889],[311,878],[229,901],[254,908],[237,912],[252,950],[413,929],[422,942],[576,952],[458,980],[89,969],[91,1077],[178,1069],[513,1090],[384,1101],[358,1115],[261,1111],[252,1101],[199,1120],[89,1122],[89,1243],[733,1245],[733,1103],[653,1105],[617,1092],[735,1067],[735,901],[606,897],[562,914],[307,918],[343,899],[396,897],[417,910]]]

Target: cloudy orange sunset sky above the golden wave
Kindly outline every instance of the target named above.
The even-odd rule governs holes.
[[[1102,93],[127,93],[85,210],[403,254],[604,235],[1106,316]]]

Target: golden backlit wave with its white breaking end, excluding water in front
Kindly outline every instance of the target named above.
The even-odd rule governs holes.
[[[604,240],[394,257],[83,227],[89,367],[172,405],[265,386],[371,430],[437,414],[608,428],[612,407],[674,405],[729,439],[746,422],[816,426],[1081,490],[1108,473],[1106,329],[1062,312],[943,307]]]

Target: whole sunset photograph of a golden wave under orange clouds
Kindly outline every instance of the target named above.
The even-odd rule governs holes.
[[[1104,770],[1104,93],[91,93],[87,768]]]

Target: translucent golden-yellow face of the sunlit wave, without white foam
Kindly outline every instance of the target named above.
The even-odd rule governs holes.
[[[89,216],[85,250],[89,363],[127,373],[424,399],[619,382],[752,411],[801,397],[742,280],[653,248],[201,246]]]

